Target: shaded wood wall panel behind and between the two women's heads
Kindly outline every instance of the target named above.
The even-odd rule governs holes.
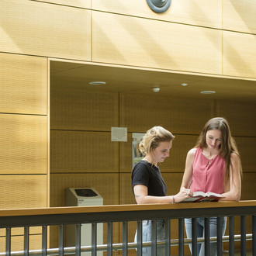
[[[183,172],[185,170],[185,158],[188,151],[195,147],[198,136],[174,134],[175,140],[168,157],[160,164],[161,172]],[[120,172],[132,171],[132,133],[128,133],[126,143],[119,144]]]

